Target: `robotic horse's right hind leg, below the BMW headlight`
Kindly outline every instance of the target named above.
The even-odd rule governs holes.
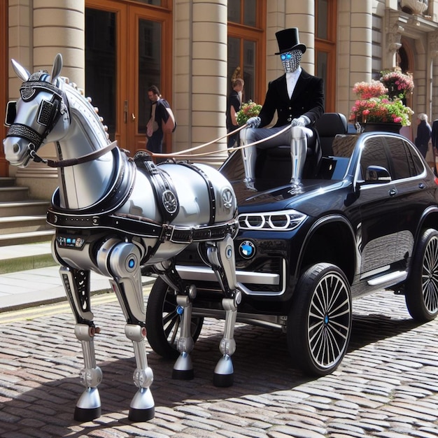
[[[241,302],[241,291],[237,288],[232,236],[228,234],[222,241],[209,243],[206,255],[225,295],[222,299],[222,307],[225,310],[225,329],[219,346],[222,358],[220,358],[214,370],[213,384],[222,387],[232,386],[234,367],[231,356],[236,351],[234,327],[236,325],[237,306]]]

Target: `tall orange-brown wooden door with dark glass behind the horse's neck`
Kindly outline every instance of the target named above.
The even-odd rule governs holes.
[[[171,10],[87,0],[85,20],[85,92],[111,140],[133,155],[146,148],[148,87],[157,85],[171,104]],[[166,136],[164,152],[171,151],[170,142]]]

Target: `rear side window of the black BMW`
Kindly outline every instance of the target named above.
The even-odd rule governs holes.
[[[390,170],[393,180],[411,178],[421,174],[423,164],[418,154],[409,147],[403,139],[386,137],[386,143],[393,161],[393,168]]]

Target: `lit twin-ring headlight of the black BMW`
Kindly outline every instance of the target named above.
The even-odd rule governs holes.
[[[290,231],[302,224],[306,215],[296,210],[267,211],[266,213],[244,213],[239,215],[241,229],[274,229]]]

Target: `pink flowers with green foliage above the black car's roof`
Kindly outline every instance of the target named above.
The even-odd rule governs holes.
[[[389,87],[397,86],[396,94],[388,95]],[[398,88],[400,87],[400,88]],[[402,98],[407,92],[414,89],[412,76],[396,69],[382,72],[381,80],[372,80],[371,83],[358,82],[353,92],[359,99],[351,108],[353,123],[400,123],[402,126],[411,125],[411,115],[414,111],[404,105]]]

